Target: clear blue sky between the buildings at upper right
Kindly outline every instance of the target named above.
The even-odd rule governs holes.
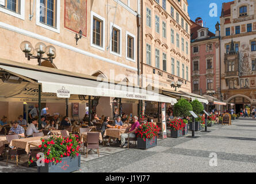
[[[220,22],[221,7],[223,2],[230,2],[232,0],[188,0],[189,3],[189,16],[191,20],[196,20],[197,17],[201,17],[204,21],[204,26],[215,33],[215,24]],[[217,4],[217,17],[209,16],[209,5],[211,3]]]

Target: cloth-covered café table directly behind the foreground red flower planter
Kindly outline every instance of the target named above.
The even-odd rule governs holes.
[[[30,148],[36,148],[41,144],[41,138],[47,139],[49,136],[40,137],[29,137],[24,139],[13,139],[10,142],[10,146],[25,149],[26,153],[29,154]]]

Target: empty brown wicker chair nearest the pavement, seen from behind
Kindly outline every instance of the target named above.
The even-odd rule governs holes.
[[[100,132],[87,133],[86,158],[88,157],[88,149],[97,149],[98,156],[100,157],[99,136],[100,136]]]

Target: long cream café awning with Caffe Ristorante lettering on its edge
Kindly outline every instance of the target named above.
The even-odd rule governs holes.
[[[177,103],[175,98],[166,97],[165,95],[140,89],[139,87],[84,79],[82,77],[80,78],[78,73],[76,74],[78,77],[74,77],[54,74],[53,72],[29,70],[16,66],[6,66],[1,63],[0,68],[12,73],[13,75],[18,75],[25,80],[28,78],[32,79],[33,81],[41,84],[43,93],[54,93],[60,98],[69,98],[71,94],[77,94],[140,99],[146,101],[166,102],[170,104]],[[52,69],[56,70],[55,68]],[[48,68],[48,70],[51,70],[51,68]]]

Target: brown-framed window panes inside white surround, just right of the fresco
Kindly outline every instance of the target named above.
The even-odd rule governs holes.
[[[103,21],[93,17],[93,44],[103,47]]]

